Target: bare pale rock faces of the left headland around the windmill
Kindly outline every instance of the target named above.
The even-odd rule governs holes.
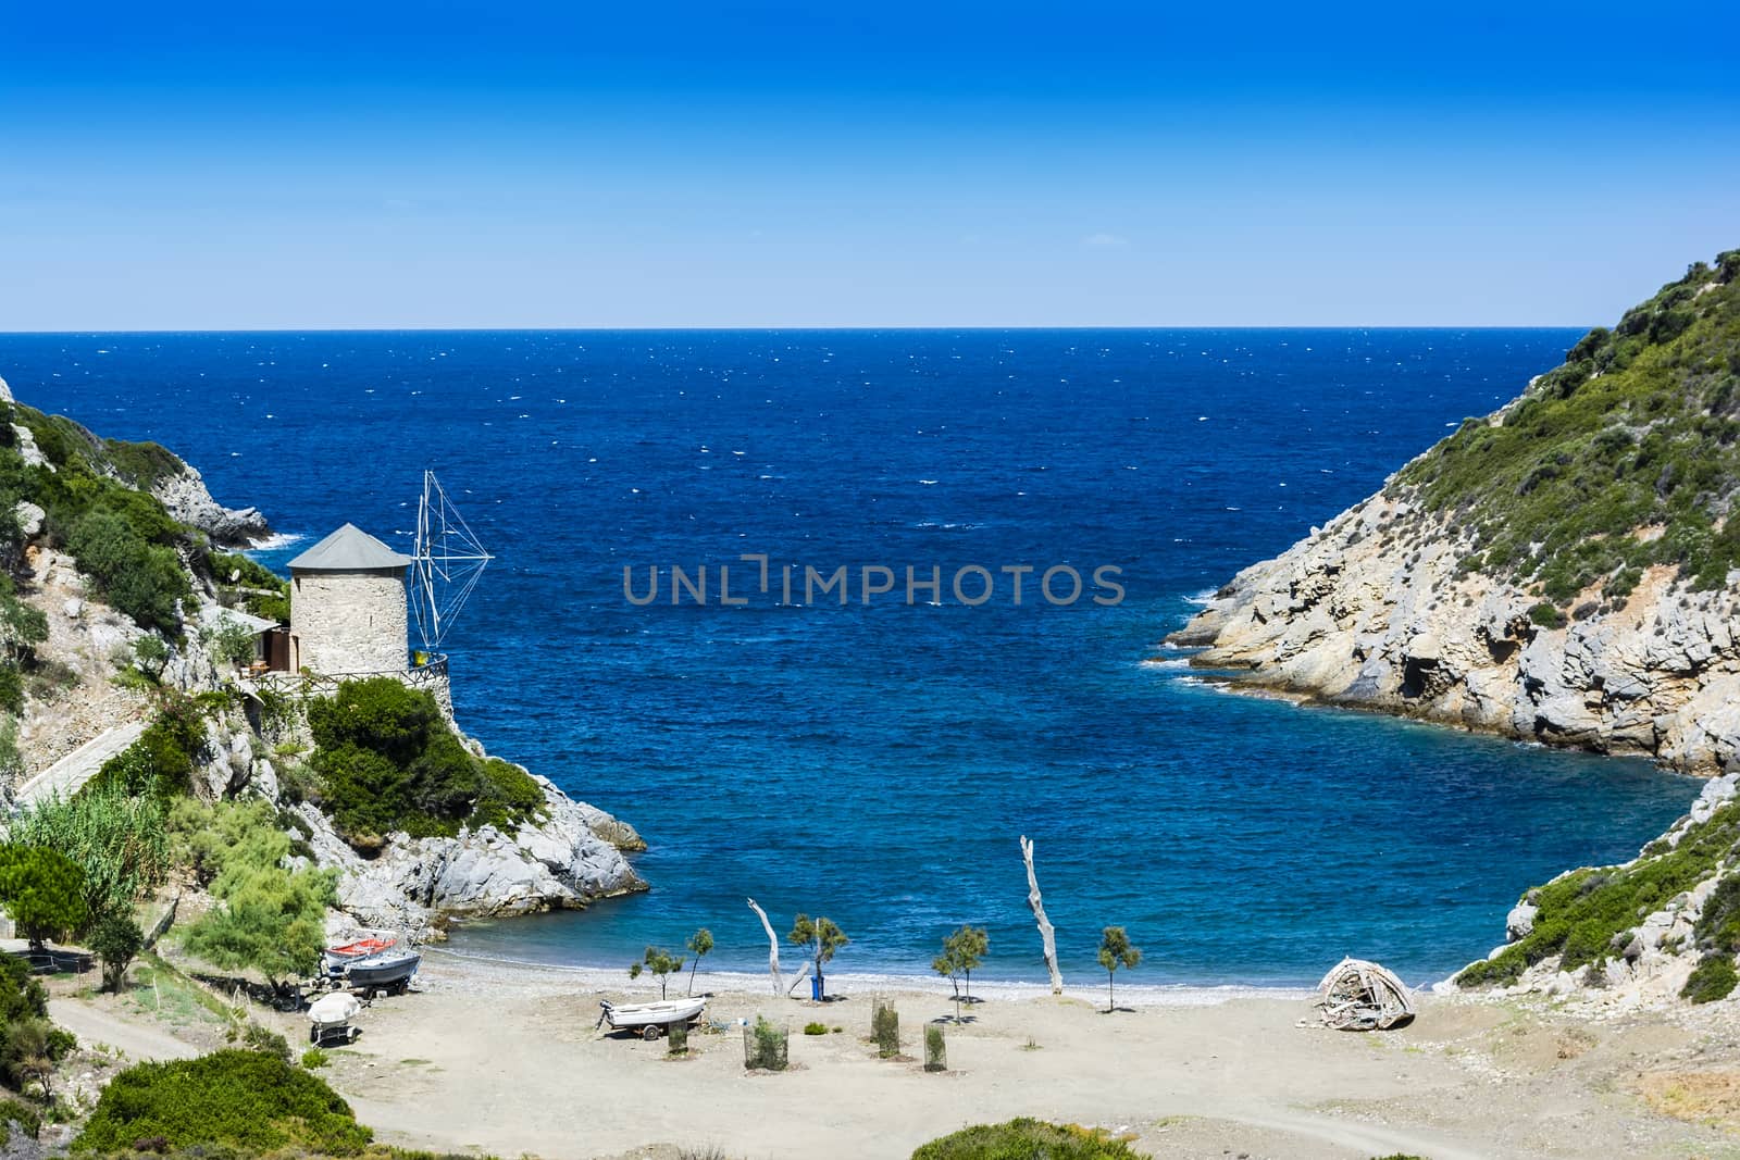
[[[0,379],[0,405],[14,402]],[[258,508],[223,506],[198,470],[172,452],[150,443],[129,445],[150,457],[155,473],[150,480],[125,477],[103,459],[111,443],[78,424],[68,423],[66,428],[75,431],[80,445],[89,447],[92,464],[108,478],[151,496],[172,518],[202,532],[212,544],[249,548],[271,536]],[[28,426],[16,423],[10,430],[26,464],[56,471]],[[146,631],[101,600],[71,555],[38,543],[44,530],[40,506],[21,503],[17,517],[31,576],[23,595],[42,610],[47,628],[38,654],[44,663],[70,675],[64,689],[33,699],[23,715],[17,784],[24,784],[85,743],[129,723],[136,729],[150,715],[151,697],[137,680],[125,680],[134,645]],[[233,694],[237,704],[209,717],[204,744],[195,755],[193,788],[207,800],[259,797],[278,810],[280,824],[306,849],[301,857],[338,875],[339,913],[329,922],[336,934],[367,929],[430,939],[440,937],[449,918],[581,908],[647,889],[625,857],[646,849],[633,826],[572,800],[550,779],[536,776],[532,781],[543,791],[543,807],[513,833],[494,826],[461,828],[454,837],[438,838],[392,833],[379,850],[371,850],[372,857],[351,849],[332,821],[299,793],[289,791],[280,776],[285,772],[280,767],[311,751],[306,722],[268,722],[258,696],[237,683],[233,666],[214,657],[211,642],[193,626],[218,610],[219,593],[202,583],[186,558],[183,567],[191,581],[191,600],[181,609],[188,631],[171,650],[157,680],[188,697]],[[466,737],[451,717],[447,727],[466,750],[478,758],[487,757],[484,746]],[[92,772],[78,770],[82,777]],[[5,786],[7,795],[14,788]]]

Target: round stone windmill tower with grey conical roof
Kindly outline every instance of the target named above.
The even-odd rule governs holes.
[[[404,673],[411,562],[355,523],[291,560],[291,670]]]

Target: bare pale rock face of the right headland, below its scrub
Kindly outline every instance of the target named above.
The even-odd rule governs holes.
[[[1239,572],[1168,640],[1192,663],[1305,697],[1696,774],[1740,755],[1740,574],[1716,591],[1648,569],[1618,607],[1540,597],[1462,565],[1453,518],[1392,483]]]

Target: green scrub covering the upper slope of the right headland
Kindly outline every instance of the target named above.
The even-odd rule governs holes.
[[[1597,327],[1496,423],[1467,419],[1399,483],[1474,529],[1463,567],[1550,602],[1625,597],[1655,563],[1740,567],[1740,250]],[[1650,529],[1648,534],[1643,534]],[[1542,623],[1542,617],[1535,617]]]

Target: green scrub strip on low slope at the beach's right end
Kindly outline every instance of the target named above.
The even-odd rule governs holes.
[[[1554,878],[1529,892],[1540,908],[1535,929],[1493,958],[1463,969],[1456,983],[1465,988],[1514,983],[1528,967],[1554,955],[1563,957],[1563,970],[1606,960],[1623,950],[1613,944],[1615,936],[1716,873],[1737,842],[1740,803],[1728,803],[1693,826],[1674,849],[1651,843],[1627,866],[1585,868]]]

